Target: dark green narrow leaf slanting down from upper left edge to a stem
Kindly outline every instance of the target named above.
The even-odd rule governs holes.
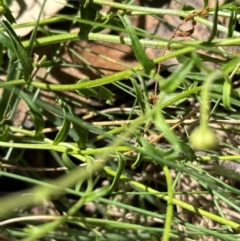
[[[24,49],[21,40],[14,32],[12,26],[7,21],[4,21],[4,20],[2,21],[2,25],[12,41],[15,54],[17,55],[22,65],[22,72],[24,75],[24,79],[26,82],[28,82],[33,70],[32,60],[28,56],[27,51]]]

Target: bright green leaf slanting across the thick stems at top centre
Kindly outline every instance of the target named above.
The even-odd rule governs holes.
[[[146,74],[152,76],[155,73],[154,63],[151,59],[149,59],[149,57],[145,53],[143,46],[140,43],[137,37],[137,34],[135,33],[132,23],[130,22],[130,20],[127,18],[126,15],[121,16],[121,14],[118,14],[118,16],[121,19],[123,25],[125,26],[129,34],[129,37],[132,42],[132,49],[133,49],[134,55],[136,56],[140,64],[143,66]]]

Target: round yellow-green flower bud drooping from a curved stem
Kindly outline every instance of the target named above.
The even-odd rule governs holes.
[[[190,144],[196,150],[214,149],[218,145],[217,137],[208,126],[199,126],[191,134]]]

